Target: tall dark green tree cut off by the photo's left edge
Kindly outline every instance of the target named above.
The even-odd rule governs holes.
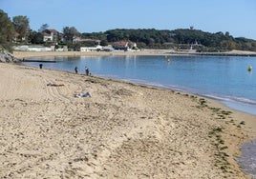
[[[6,50],[11,50],[11,44],[15,31],[11,23],[11,19],[3,10],[0,10],[0,27],[4,27],[0,28],[0,46]]]

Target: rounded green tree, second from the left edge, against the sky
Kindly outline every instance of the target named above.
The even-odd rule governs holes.
[[[12,24],[14,26],[14,30],[19,33],[19,40],[27,41],[27,37],[30,31],[30,21],[27,16],[14,16],[12,18]]]

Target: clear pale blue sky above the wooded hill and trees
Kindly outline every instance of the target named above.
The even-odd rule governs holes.
[[[0,9],[11,18],[26,15],[32,30],[43,24],[79,32],[194,26],[256,40],[256,0],[0,0]]]

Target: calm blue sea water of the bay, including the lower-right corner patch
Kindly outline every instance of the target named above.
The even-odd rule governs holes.
[[[93,56],[32,57],[54,60],[43,68],[85,73],[133,83],[177,89],[214,98],[226,106],[256,114],[256,57],[249,56]],[[25,63],[38,67],[39,63]],[[248,71],[248,67],[252,71]],[[245,172],[255,176],[255,143],[242,146],[239,159]]]

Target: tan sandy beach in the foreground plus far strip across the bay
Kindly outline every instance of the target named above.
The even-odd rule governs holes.
[[[13,54],[56,53],[80,55]],[[256,116],[96,76],[4,63],[0,73],[0,178],[250,178],[236,160]]]

